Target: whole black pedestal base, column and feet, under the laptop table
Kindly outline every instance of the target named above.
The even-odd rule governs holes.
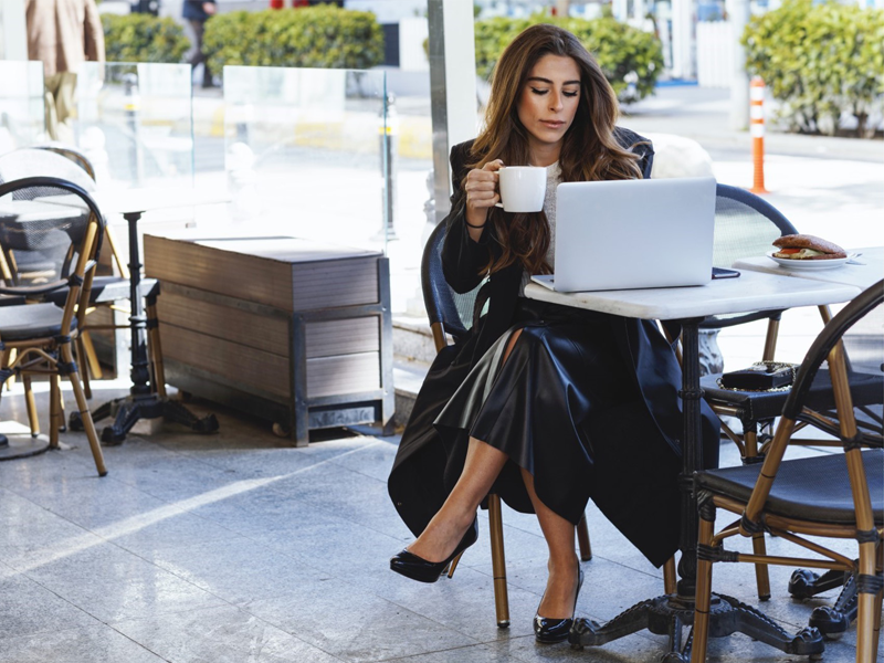
[[[682,643],[682,631],[694,623],[694,597],[697,571],[697,503],[694,490],[694,472],[704,467],[701,440],[698,325],[702,318],[681,320],[682,351],[682,404],[684,408],[684,453],[682,490],[682,533],[678,548],[677,593],[642,601],[600,625],[580,618],[571,627],[568,641],[572,646],[598,646],[630,633],[648,629],[659,635],[669,635],[669,651],[662,663],[685,663],[691,660],[693,631]],[[713,594],[709,607],[709,638],[724,638],[732,633],[745,633],[788,654],[804,654],[817,657],[822,654],[822,634],[813,628],[801,629],[789,635],[761,611],[724,594]]]

